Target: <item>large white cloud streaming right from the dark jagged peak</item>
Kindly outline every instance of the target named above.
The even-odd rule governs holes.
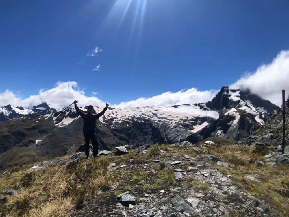
[[[269,64],[261,65],[254,73],[246,73],[232,88],[249,88],[277,106],[282,104],[282,89],[289,93],[289,50],[281,51]]]

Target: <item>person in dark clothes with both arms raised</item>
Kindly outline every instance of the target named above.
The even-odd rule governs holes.
[[[101,115],[105,113],[105,111],[108,109],[108,104],[106,103],[106,107],[100,112],[96,113],[93,106],[89,105],[87,109],[87,114],[84,112],[80,111],[78,106],[77,106],[77,100],[73,102],[74,108],[76,112],[84,119],[84,124],[83,124],[83,135],[84,135],[84,141],[85,141],[85,154],[86,158],[89,157],[89,140],[91,139],[91,143],[93,146],[93,157],[97,157],[98,154],[98,143],[95,137],[95,131],[96,131],[96,126],[95,122]]]

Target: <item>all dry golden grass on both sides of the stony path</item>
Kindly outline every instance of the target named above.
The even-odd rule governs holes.
[[[289,165],[278,165],[277,168],[264,165],[258,167],[254,162],[256,159],[264,160],[263,155],[268,153],[266,149],[257,150],[249,146],[226,145],[204,145],[202,154],[210,154],[223,159],[230,164],[230,167],[218,167],[212,164],[212,168],[217,168],[223,173],[231,174],[233,181],[242,190],[256,195],[263,199],[267,205],[278,216],[289,216]],[[165,153],[161,154],[160,150]],[[142,164],[150,159],[168,158],[174,156],[181,159],[183,155],[194,156],[192,147],[176,148],[166,145],[156,145],[148,149],[146,154],[129,151],[127,155],[102,156],[99,159],[81,159],[79,162],[71,162],[64,165],[49,167],[47,170],[30,171],[29,166],[10,169],[0,175],[0,190],[12,187],[18,194],[8,196],[5,204],[0,204],[0,216],[68,216],[75,209],[85,206],[96,194],[111,189],[121,176],[118,172],[110,174],[109,164],[118,163]],[[151,164],[151,163],[150,163]],[[152,163],[153,164],[153,163]],[[164,185],[174,185],[174,172],[155,163],[154,177],[148,177],[147,172],[142,170],[131,171],[125,167],[124,173],[128,180],[134,180],[141,185],[141,190],[159,188]],[[184,168],[186,169],[186,168]],[[122,174],[123,175],[123,174]],[[155,176],[157,175],[157,176]],[[260,182],[251,181],[246,175],[259,176]],[[150,175],[151,176],[151,175]],[[151,180],[151,181],[149,181]],[[192,187],[207,191],[208,186],[204,183],[190,180]],[[125,189],[129,190],[127,184]],[[118,194],[117,192],[116,194]],[[238,216],[238,212],[235,215]]]

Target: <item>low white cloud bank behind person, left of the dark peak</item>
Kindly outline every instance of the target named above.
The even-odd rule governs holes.
[[[191,88],[176,93],[166,92],[151,98],[138,98],[137,100],[112,105],[112,107],[144,107],[149,105],[175,105],[207,102],[212,99],[217,92],[218,91],[214,90],[198,91],[195,88]],[[98,93],[92,92],[92,94],[96,95]],[[71,104],[74,100],[78,100],[80,106],[87,106],[88,104],[105,106],[106,103],[95,96],[86,96],[84,89],[80,89],[75,81],[57,82],[55,87],[47,90],[41,89],[37,95],[32,95],[26,99],[20,98],[10,90],[0,93],[0,106],[11,104],[12,106],[31,108],[42,101],[46,101],[47,104],[51,105],[51,107],[62,108],[63,106]]]

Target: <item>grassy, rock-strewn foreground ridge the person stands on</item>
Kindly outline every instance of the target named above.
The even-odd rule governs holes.
[[[123,146],[9,171],[0,177],[2,215],[289,216],[288,162],[269,162],[279,155],[271,149],[220,143]]]

